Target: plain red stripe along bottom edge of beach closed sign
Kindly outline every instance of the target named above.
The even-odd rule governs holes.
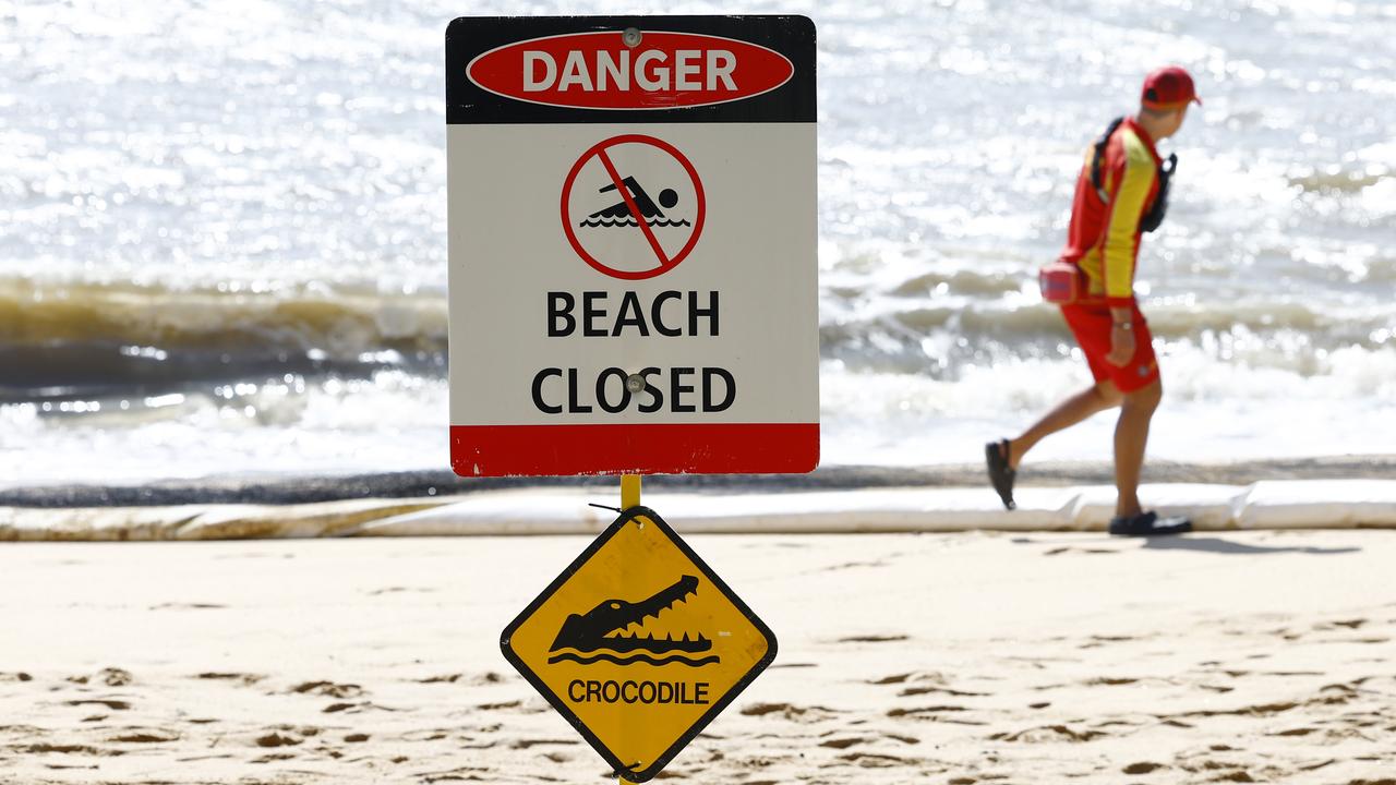
[[[461,476],[804,474],[819,423],[452,425]]]

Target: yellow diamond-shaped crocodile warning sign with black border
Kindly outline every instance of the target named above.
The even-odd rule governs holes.
[[[775,659],[775,634],[648,507],[621,514],[500,638],[630,782],[645,782]]]

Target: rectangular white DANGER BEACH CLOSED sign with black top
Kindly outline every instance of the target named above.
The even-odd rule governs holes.
[[[445,47],[456,474],[812,469],[810,20],[459,18]]]

